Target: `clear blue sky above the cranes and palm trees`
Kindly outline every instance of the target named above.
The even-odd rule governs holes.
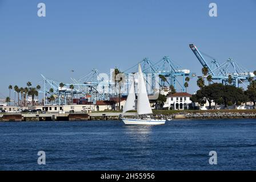
[[[46,4],[46,17],[37,4]],[[209,3],[218,5],[210,17]],[[256,1],[53,1],[0,0],[0,98],[8,85],[34,86],[40,73],[69,82],[91,71],[125,70],[149,57],[169,55],[185,69],[201,74],[189,48],[225,61],[233,57],[256,69]],[[209,60],[210,61],[210,60]],[[197,78],[189,92],[197,90]]]

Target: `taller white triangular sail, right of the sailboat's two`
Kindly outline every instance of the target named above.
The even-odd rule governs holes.
[[[147,96],[147,89],[141,71],[141,64],[139,64],[138,74],[138,106],[137,113],[141,114],[152,114],[152,109],[149,103],[149,97]]]

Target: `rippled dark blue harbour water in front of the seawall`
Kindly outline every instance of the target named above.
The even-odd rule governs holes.
[[[38,165],[38,151],[46,165]],[[217,152],[217,165],[209,152]],[[256,119],[1,122],[0,170],[256,169]]]

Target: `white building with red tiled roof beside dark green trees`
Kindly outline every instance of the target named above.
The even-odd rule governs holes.
[[[189,109],[191,104],[190,97],[192,95],[186,92],[177,92],[167,97],[163,107],[169,107],[170,110],[184,110]]]

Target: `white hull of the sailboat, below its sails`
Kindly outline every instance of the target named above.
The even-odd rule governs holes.
[[[165,125],[165,120],[163,119],[121,119],[125,125]]]

